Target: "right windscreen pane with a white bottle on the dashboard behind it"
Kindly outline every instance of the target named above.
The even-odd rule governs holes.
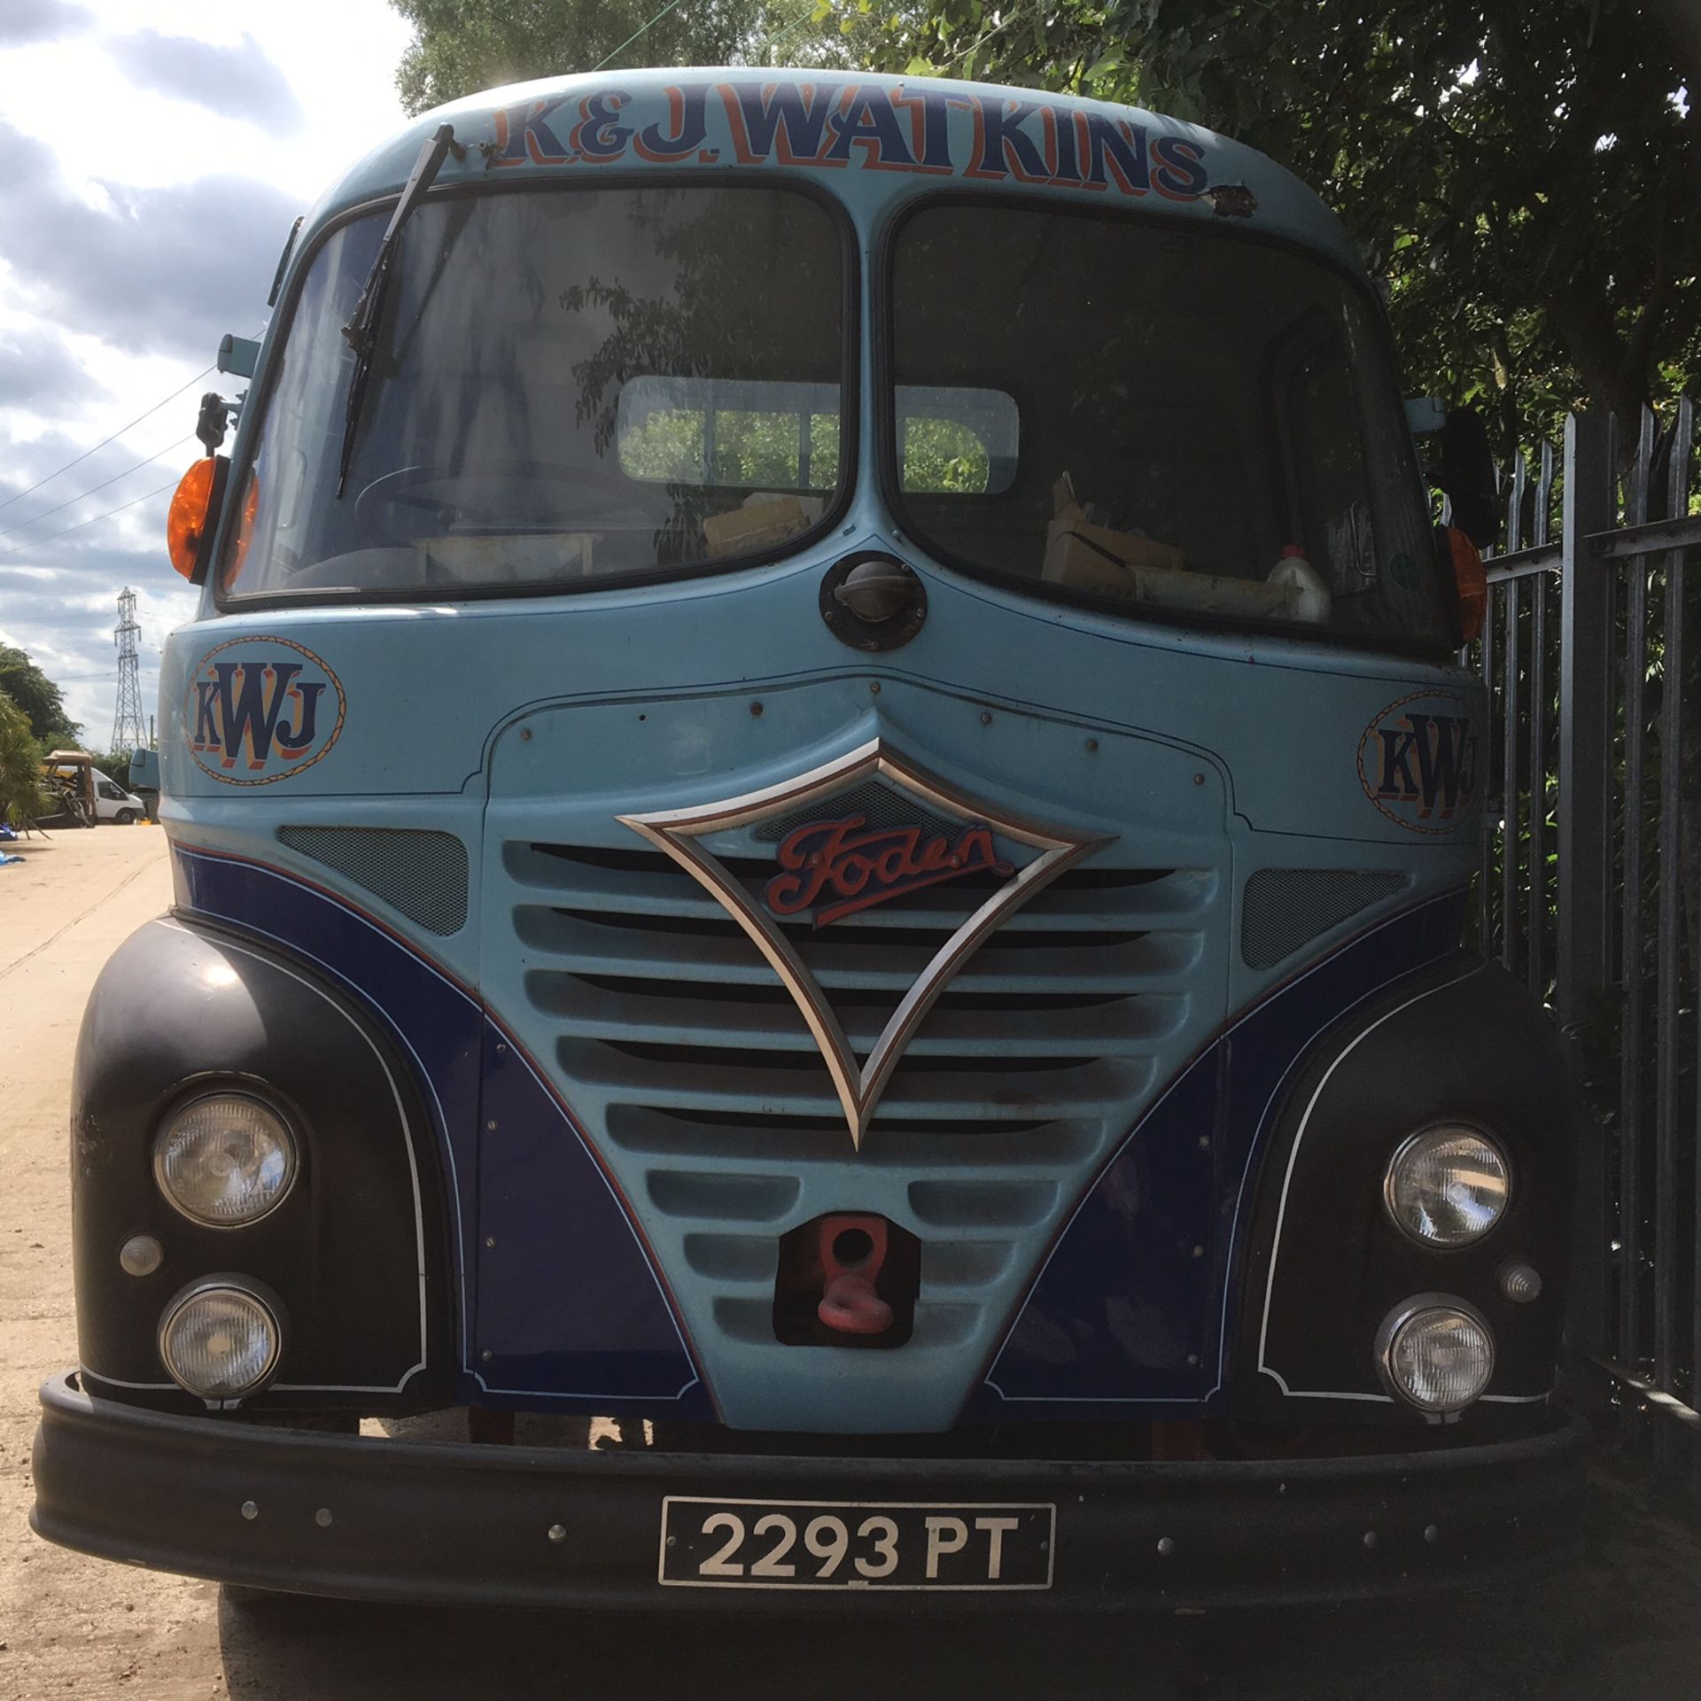
[[[924,546],[1141,617],[1446,643],[1386,342],[1327,267],[1218,231],[942,202],[900,228],[891,287],[900,396],[987,391],[1019,413],[1002,486],[890,478]]]

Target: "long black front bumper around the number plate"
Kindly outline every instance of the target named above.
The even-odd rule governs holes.
[[[934,1606],[1175,1611],[1480,1584],[1579,1539],[1579,1419],[1446,1453],[1283,1463],[816,1459],[376,1441],[41,1391],[49,1541],[225,1582],[371,1601],[925,1611],[925,1590],[672,1589],[665,1495],[1056,1505],[1053,1587]],[[252,1512],[245,1512],[245,1505]],[[551,1539],[551,1526],[563,1534]]]

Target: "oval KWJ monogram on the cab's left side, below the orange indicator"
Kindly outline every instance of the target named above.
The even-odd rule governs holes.
[[[311,767],[342,731],[337,675],[289,638],[231,638],[189,675],[189,754],[226,786],[272,786]]]

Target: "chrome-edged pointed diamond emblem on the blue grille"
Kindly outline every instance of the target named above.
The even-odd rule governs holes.
[[[883,818],[871,799],[885,803]],[[905,1046],[958,970],[1034,893],[1106,842],[963,796],[878,738],[762,791],[619,820],[713,893],[767,958],[822,1050],[857,1148]],[[776,842],[774,874],[759,893],[703,844],[735,828]],[[1034,854],[1017,866],[1000,856],[998,840]],[[1002,876],[995,890],[934,953],[859,1060],[781,924],[801,919],[825,929],[907,893],[988,873]]]

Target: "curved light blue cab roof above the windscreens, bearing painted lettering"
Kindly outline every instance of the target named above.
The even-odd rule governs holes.
[[[806,174],[873,221],[939,187],[1056,194],[1281,236],[1363,274],[1340,221],[1284,167],[1140,107],[930,77],[703,68],[512,83],[422,112],[335,184],[304,238],[396,194],[439,124],[441,185],[616,170]],[[306,253],[310,242],[299,245]]]

